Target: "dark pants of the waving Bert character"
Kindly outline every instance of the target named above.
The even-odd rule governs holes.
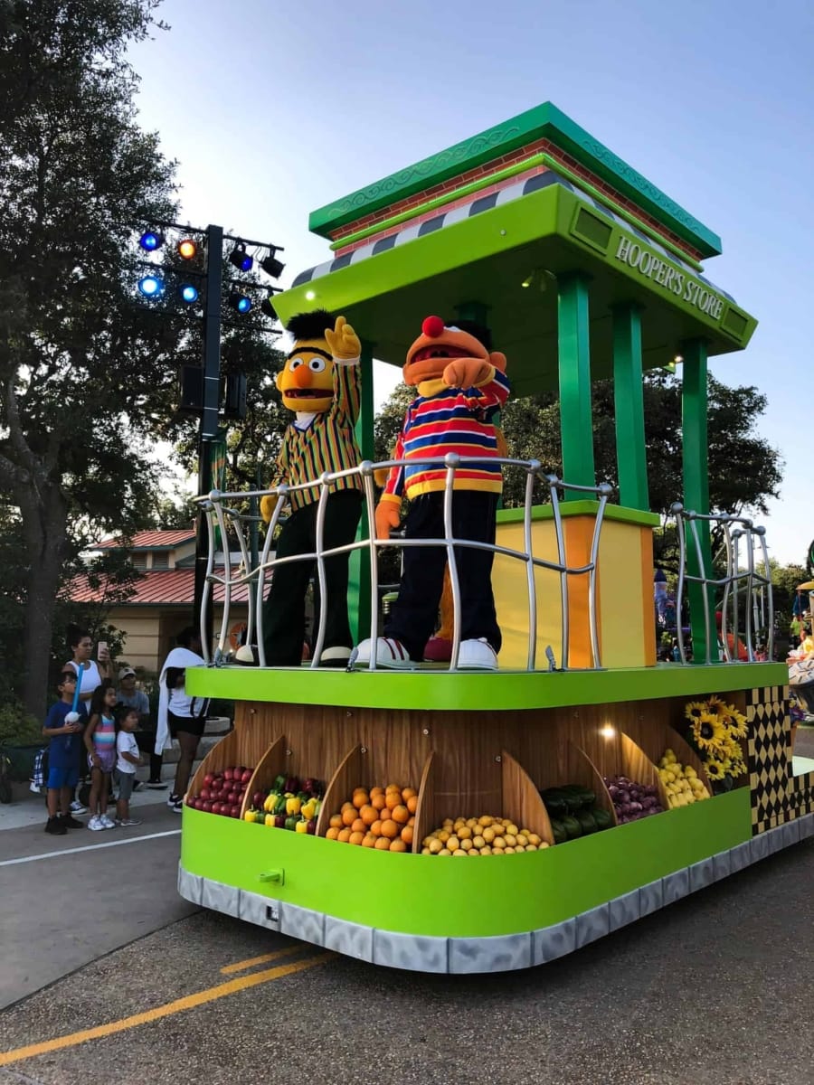
[[[356,538],[361,516],[358,489],[340,489],[326,500],[322,548],[346,546]],[[313,553],[317,549],[317,503],[293,512],[282,525],[277,540],[277,557]],[[323,648],[352,648],[347,621],[348,554],[327,558],[325,562],[326,610]],[[263,607],[263,631],[268,666],[300,666],[305,640],[305,592],[316,562],[294,561],[280,565],[271,577],[271,587]]]

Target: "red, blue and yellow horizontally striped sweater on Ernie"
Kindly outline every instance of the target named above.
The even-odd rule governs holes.
[[[393,451],[394,460],[443,457],[447,452],[483,457],[455,472],[454,489],[479,489],[499,494],[503,489],[495,417],[509,396],[506,374],[495,371],[479,388],[450,388],[443,381],[422,381],[418,398],[407,408],[404,425]],[[446,468],[412,465],[392,468],[384,486],[384,500],[409,500],[443,490]]]

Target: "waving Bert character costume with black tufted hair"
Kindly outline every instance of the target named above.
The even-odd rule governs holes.
[[[330,326],[333,326],[332,328]],[[277,374],[283,406],[295,418],[285,431],[271,486],[296,486],[318,480],[328,471],[355,468],[361,460],[354,426],[359,416],[359,357],[361,344],[344,317],[323,309],[298,314],[285,330],[294,347]],[[277,539],[277,558],[314,553],[317,549],[318,485],[288,495],[291,512]],[[328,486],[322,549],[353,542],[361,516],[361,484],[357,475],[336,478]],[[260,500],[260,513],[269,523],[278,497]],[[347,620],[347,553],[325,559],[326,631],[319,663],[346,666],[353,647]],[[298,666],[305,639],[305,595],[315,562],[294,561],[280,565],[271,577],[264,603],[264,647],[269,666]],[[241,655],[241,653],[243,653]],[[251,649],[238,659],[247,662]]]

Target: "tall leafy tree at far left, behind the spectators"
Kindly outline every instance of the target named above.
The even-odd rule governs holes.
[[[64,563],[150,514],[180,318],[133,305],[133,225],[175,212],[125,61],[156,0],[1,0],[0,484],[18,510],[26,709]]]

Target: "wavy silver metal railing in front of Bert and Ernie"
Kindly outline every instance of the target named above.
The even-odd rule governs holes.
[[[453,626],[453,651],[451,660],[449,663],[449,669],[455,671],[458,667],[459,650],[460,650],[460,584],[458,579],[458,569],[456,561],[456,547],[474,547],[483,550],[491,550],[495,554],[504,554],[507,558],[522,561],[525,563],[526,567],[526,595],[527,595],[527,614],[529,614],[529,647],[527,647],[527,660],[526,669],[535,671],[537,668],[537,587],[535,580],[536,570],[548,570],[559,576],[560,580],[560,600],[561,600],[561,643],[562,643],[562,660],[560,669],[569,669],[569,640],[570,640],[570,628],[569,628],[569,578],[572,576],[586,576],[588,583],[588,635],[590,643],[590,667],[589,669],[598,669],[601,667],[600,650],[599,650],[599,636],[597,627],[597,563],[599,557],[599,542],[602,523],[605,519],[605,510],[608,500],[612,494],[612,487],[607,483],[602,483],[598,486],[577,486],[570,483],[563,482],[556,475],[547,474],[543,464],[538,460],[517,460],[517,459],[498,459],[497,463],[501,465],[503,469],[512,468],[519,469],[525,473],[525,500],[523,505],[523,549],[512,549],[505,546],[491,545],[486,542],[475,542],[471,539],[456,538],[453,535],[451,523],[453,523],[453,492],[456,472],[459,469],[466,468],[470,463],[479,463],[481,460],[478,457],[467,457],[457,456],[454,452],[448,454],[443,458],[438,457],[428,457],[423,460],[410,459],[409,465],[416,467],[418,464],[424,467],[443,467],[446,471],[445,489],[444,489],[444,536],[443,538],[435,539],[405,539],[400,537],[393,537],[389,539],[377,539],[376,537],[370,537],[366,539],[359,539],[357,541],[347,544],[342,547],[334,547],[326,549],[323,547],[325,539],[325,519],[327,509],[327,499],[330,493],[329,487],[331,483],[335,482],[338,478],[347,477],[351,475],[357,475],[361,483],[361,490],[364,499],[367,506],[368,523],[370,525],[374,524],[376,521],[376,494],[374,494],[374,473],[380,470],[390,470],[394,467],[405,467],[407,464],[406,460],[386,460],[381,463],[372,463],[368,460],[360,463],[357,468],[353,468],[347,471],[341,472],[326,472],[319,476],[319,478],[302,483],[297,486],[280,485],[278,487],[267,489],[267,490],[247,490],[241,493],[220,493],[218,490],[213,490],[211,494],[199,497],[198,501],[203,506],[205,512],[207,513],[206,522],[208,525],[208,557],[206,565],[206,583],[204,588],[204,607],[202,612],[206,613],[207,609],[212,605],[214,589],[216,586],[222,588],[222,602],[224,602],[224,614],[220,622],[220,630],[217,638],[217,644],[215,648],[214,655],[211,652],[208,644],[208,633],[204,629],[202,624],[202,642],[204,650],[204,658],[207,664],[221,665],[228,662],[227,653],[227,641],[228,641],[228,630],[231,621],[230,609],[232,603],[232,598],[236,589],[241,586],[245,586],[247,590],[247,604],[249,604],[249,620],[246,627],[246,643],[257,646],[257,654],[260,666],[266,666],[266,654],[264,648],[264,636],[263,636],[263,601],[266,593],[266,582],[267,576],[271,572],[282,571],[283,566],[295,561],[308,561],[316,564],[316,577],[317,584],[319,585],[320,598],[326,597],[326,571],[325,571],[325,560],[326,558],[331,558],[341,553],[352,553],[355,550],[367,549],[370,551],[370,598],[371,598],[371,613],[370,613],[370,637],[373,641],[379,636],[379,575],[378,575],[378,562],[377,562],[377,551],[385,547],[437,547],[443,546],[447,551],[447,564],[449,567],[449,579],[453,593],[454,603],[454,626]],[[533,539],[532,539],[532,508],[533,508],[533,495],[535,483],[542,482],[544,486],[548,489],[548,496],[551,507],[551,519],[555,529],[555,538],[557,546],[557,560],[548,561],[543,558],[536,557],[533,550]],[[313,489],[315,486],[320,487],[319,498],[317,500],[317,518],[316,518],[316,550],[313,553],[295,554],[288,558],[277,558],[271,557],[272,540],[275,536],[276,528],[281,521],[287,506],[289,505],[289,497],[292,493],[296,490],[308,490]],[[588,561],[578,566],[569,565],[565,556],[565,535],[562,523],[562,509],[561,501],[567,494],[582,494],[585,497],[593,498],[597,501],[597,510],[595,515],[594,532],[592,536],[590,550]],[[243,511],[249,502],[250,498],[262,498],[264,496],[271,495],[277,496],[279,500],[277,501],[274,515],[270,523],[266,529],[266,538],[263,546],[263,551],[258,556],[258,561],[256,566],[252,565],[250,557],[250,548],[246,541],[246,534],[250,527],[257,522],[256,516],[251,516],[245,511]],[[222,541],[222,550],[225,554],[225,564],[222,574],[216,572],[215,567],[215,552],[216,552],[216,532],[218,528],[220,538]],[[373,533],[374,534],[374,533]],[[234,537],[237,540],[237,551],[240,554],[240,563],[237,569],[231,563],[231,545],[230,538]],[[325,628],[326,628],[326,608],[320,607],[319,622],[317,626],[317,636],[314,643],[313,656],[310,666],[316,667],[319,665],[319,660],[325,641]],[[370,669],[376,669],[376,653],[371,653]],[[546,649],[546,665],[540,669],[557,669],[556,660],[554,653],[549,648]]]

